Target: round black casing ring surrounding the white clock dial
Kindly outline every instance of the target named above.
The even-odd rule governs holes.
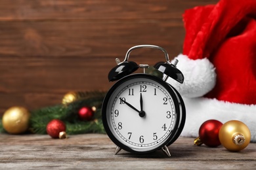
[[[108,101],[110,101],[110,97],[112,96],[112,93],[116,90],[116,88],[118,86],[123,84],[123,82],[133,79],[133,78],[148,78],[148,79],[158,82],[159,84],[161,84],[161,86],[163,86],[165,88],[165,90],[167,90],[167,92],[169,92],[169,94],[171,95],[171,97],[173,99],[173,103],[175,105],[175,111],[176,111],[177,118],[176,118],[175,127],[173,128],[173,131],[169,134],[169,137],[167,138],[166,141],[164,141],[164,143],[162,143],[160,146],[158,146],[152,150],[147,150],[147,151],[133,150],[133,148],[126,146],[125,144],[121,143],[118,139],[116,139],[116,137],[113,135],[110,127],[108,126],[106,110],[108,107]],[[175,88],[173,88],[170,84],[167,84],[167,82],[164,82],[161,78],[158,78],[157,76],[148,75],[148,74],[137,73],[137,74],[128,75],[128,76],[121,78],[110,88],[110,90],[106,94],[104,101],[102,103],[102,122],[103,122],[103,126],[104,126],[104,129],[106,130],[108,137],[110,137],[112,142],[115,143],[117,146],[119,146],[119,148],[122,148],[123,150],[126,150],[127,152],[131,152],[131,153],[146,154],[148,152],[154,152],[156,150],[159,150],[163,146],[169,146],[170,144],[174,143],[178,139],[179,135],[181,135],[182,129],[185,124],[185,120],[186,120],[186,109],[185,109],[182,97],[177,92],[177,90],[175,90]]]

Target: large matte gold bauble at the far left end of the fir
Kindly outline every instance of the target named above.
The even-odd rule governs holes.
[[[28,130],[30,112],[24,107],[11,107],[3,114],[3,128],[11,134],[20,134]]]

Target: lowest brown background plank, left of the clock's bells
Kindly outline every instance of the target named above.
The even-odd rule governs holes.
[[[14,105],[39,109],[59,104],[64,94],[70,91],[107,90],[111,83],[108,82],[106,67],[110,69],[116,65],[114,58],[106,63],[94,58],[44,60],[10,59],[0,62],[3,64],[0,66],[2,111]]]

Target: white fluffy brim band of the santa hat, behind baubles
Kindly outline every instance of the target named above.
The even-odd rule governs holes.
[[[206,120],[219,120],[223,124],[229,120],[240,120],[251,131],[251,142],[256,143],[256,105],[242,105],[198,97],[184,98],[186,123],[181,133],[184,137],[198,137],[200,126]]]

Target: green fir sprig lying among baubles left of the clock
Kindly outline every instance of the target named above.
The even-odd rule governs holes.
[[[82,133],[105,133],[101,120],[101,106],[106,92],[85,92],[84,97],[68,105],[54,105],[32,110],[30,116],[31,133],[47,134],[46,127],[53,119],[59,119],[66,124],[68,135]],[[79,109],[82,107],[96,107],[93,120],[79,120]],[[6,133],[0,122],[0,133]]]

